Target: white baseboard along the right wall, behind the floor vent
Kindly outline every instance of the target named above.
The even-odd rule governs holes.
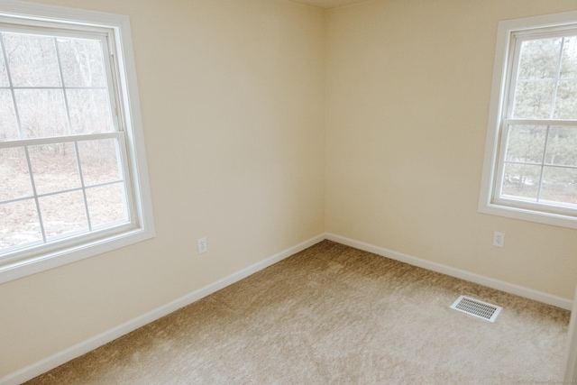
[[[325,238],[330,241],[334,241],[336,243],[343,243],[347,246],[351,246],[354,247],[355,249],[359,249],[365,252],[372,252],[374,254],[390,258],[391,260],[405,262],[408,263],[409,265],[417,266],[426,270],[433,270],[436,272],[440,272],[442,274],[459,278],[461,280],[468,280],[491,289],[498,289],[510,294],[515,294],[519,297],[534,299],[536,301],[543,302],[547,305],[553,305],[555,307],[561,307],[567,310],[571,310],[572,308],[572,300],[568,298],[557,297],[552,294],[547,294],[542,291],[517,286],[502,280],[494,280],[492,278],[484,277],[479,274],[472,273],[470,271],[456,269],[433,261],[422,260],[420,258],[413,257],[411,255],[403,254],[401,252],[394,252],[392,250],[384,249],[379,246],[374,246],[369,243],[355,241],[353,239],[345,238],[343,236],[336,234],[326,233]]]

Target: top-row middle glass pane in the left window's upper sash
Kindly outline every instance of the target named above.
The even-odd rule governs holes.
[[[8,32],[2,35],[14,87],[60,87],[53,38]]]

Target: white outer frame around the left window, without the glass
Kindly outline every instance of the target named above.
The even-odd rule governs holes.
[[[124,225],[121,231],[103,232],[96,237],[88,233],[57,246],[45,244],[30,252],[19,253],[15,258],[0,259],[0,283],[152,238],[155,235],[154,220],[128,16],[0,0],[0,21],[36,28],[57,27],[59,30],[106,33],[116,80],[112,91],[124,129],[124,136],[119,140],[126,144],[124,173],[129,174],[125,180],[130,185],[127,191],[131,201],[130,223]]]

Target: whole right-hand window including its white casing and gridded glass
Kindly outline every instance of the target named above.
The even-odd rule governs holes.
[[[577,228],[577,13],[499,23],[480,211]]]

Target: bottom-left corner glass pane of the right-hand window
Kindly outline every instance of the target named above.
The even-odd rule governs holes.
[[[502,195],[536,200],[540,173],[540,166],[505,164]]]

